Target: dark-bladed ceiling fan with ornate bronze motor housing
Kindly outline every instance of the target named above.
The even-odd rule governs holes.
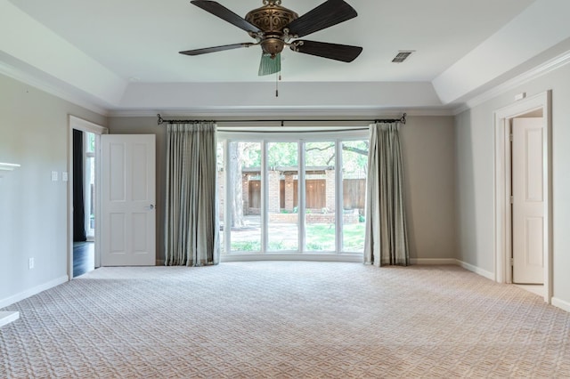
[[[362,47],[359,46],[297,39],[356,17],[358,14],[354,8],[344,0],[328,0],[301,17],[281,6],[281,0],[263,0],[264,6],[248,12],[245,19],[215,1],[192,0],[191,4],[247,31],[256,42],[224,44],[187,50],[181,54],[201,55],[260,45],[262,56],[259,75],[263,76],[281,71],[281,52],[285,46],[294,52],[345,62],[353,61],[362,52]]]

